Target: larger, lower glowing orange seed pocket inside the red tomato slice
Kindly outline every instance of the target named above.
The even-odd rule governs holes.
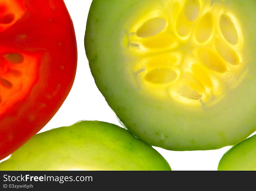
[[[3,47],[3,51],[6,47]],[[32,55],[15,53],[3,53],[0,57],[3,65],[0,77],[0,115],[12,107],[13,103],[25,98],[38,82],[38,54]]]

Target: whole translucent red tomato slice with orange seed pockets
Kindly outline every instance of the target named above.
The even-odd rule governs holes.
[[[49,122],[77,68],[63,0],[0,0],[0,159]]]

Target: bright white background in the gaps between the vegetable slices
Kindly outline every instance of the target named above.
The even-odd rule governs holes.
[[[77,37],[77,74],[64,104],[40,132],[69,126],[80,120],[98,120],[120,126],[115,113],[109,108],[94,83],[84,50],[86,20],[92,0],[64,0],[64,2],[73,20]],[[230,147],[211,151],[167,151],[154,148],[167,160],[172,170],[217,170],[219,160]]]

